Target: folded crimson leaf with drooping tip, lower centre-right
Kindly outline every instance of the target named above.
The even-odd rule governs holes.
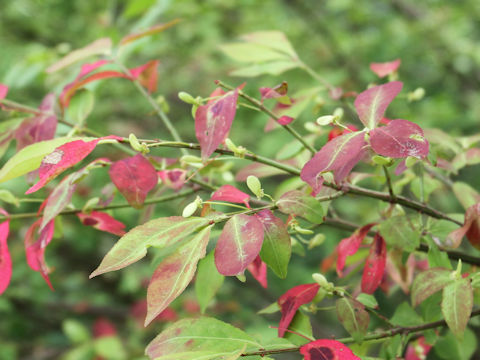
[[[298,308],[311,302],[317,295],[318,289],[320,289],[320,285],[317,283],[303,284],[291,288],[280,296],[278,305],[280,305],[282,318],[278,326],[278,337],[283,337]]]

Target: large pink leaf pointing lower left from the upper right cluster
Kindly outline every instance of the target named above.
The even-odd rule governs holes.
[[[322,187],[322,173],[326,171],[333,171],[337,183],[342,181],[363,157],[364,138],[365,133],[358,131],[329,141],[305,164],[300,177],[313,188],[315,194]]]

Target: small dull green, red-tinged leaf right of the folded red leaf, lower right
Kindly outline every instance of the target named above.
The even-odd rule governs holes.
[[[370,323],[370,315],[365,306],[359,301],[343,297],[337,300],[336,308],[338,320],[345,330],[356,342],[361,342]]]

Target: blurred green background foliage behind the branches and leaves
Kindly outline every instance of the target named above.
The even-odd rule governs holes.
[[[288,82],[291,93],[318,85],[299,69],[280,76],[230,77],[228,73],[238,64],[223,55],[219,45],[258,30],[283,31],[305,63],[345,91],[360,92],[369,83],[378,81],[369,70],[371,62],[400,58],[399,77],[405,84],[404,93],[423,87],[426,96],[412,103],[404,98],[396,100],[389,109],[391,114],[415,121],[423,128],[441,128],[453,136],[478,132],[478,0],[0,0],[0,82],[10,87],[9,99],[36,107],[46,93],[59,94],[65,83],[77,75],[79,64],[51,75],[45,73],[48,66],[66,53],[101,37],[110,37],[118,43],[127,34],[174,18],[183,21],[163,33],[137,41],[123,54],[123,59],[129,67],[151,59],[160,60],[158,91],[154,97],[164,97],[169,117],[187,141],[196,142],[194,124],[190,107],[177,97],[179,91],[207,97],[214,90],[216,79],[233,85],[247,81],[245,91],[256,97],[259,87],[273,86],[283,80]],[[95,107],[87,120],[92,129],[105,134],[128,136],[133,132],[139,138],[169,139],[160,120],[130,82],[107,80],[90,89],[95,93]],[[320,112],[316,106],[319,103],[323,104]],[[305,133],[303,123],[313,121],[319,114],[329,114],[337,106],[327,92],[321,91],[294,126]],[[266,120],[263,114],[240,108],[230,137],[236,144],[274,157],[291,138],[280,130],[264,134]],[[59,128],[60,133],[67,131],[66,127]],[[14,152],[11,146],[2,164]],[[96,152],[96,155],[107,154],[111,155],[103,148]],[[154,155],[174,157],[178,151],[162,150]],[[236,162],[232,173],[239,167]],[[473,182],[478,188],[477,174],[478,168],[472,167],[460,172],[457,179]],[[221,183],[222,175],[215,176],[217,183]],[[266,191],[273,194],[283,180],[277,177],[266,181]],[[97,171],[82,182],[74,204],[81,207],[89,197],[98,196],[107,182],[106,172]],[[243,184],[238,186],[245,189]],[[22,196],[27,184],[16,180],[5,184],[5,188]],[[122,201],[118,195],[116,200]],[[157,206],[155,216],[178,215],[189,201]],[[452,196],[445,196],[437,203],[449,212],[462,211]],[[368,211],[372,207],[377,205],[349,198],[340,201],[338,211],[347,219],[365,223],[376,216],[376,212]],[[31,203],[8,208],[12,213],[37,209],[38,204]],[[115,217],[132,228],[147,215],[145,211],[125,209],[115,211]],[[153,272],[149,260],[88,280],[88,274],[116,238],[82,227],[76,218],[64,217],[58,222],[57,237],[46,252],[47,262],[55,270],[51,279],[56,291],[50,292],[40,275],[32,272],[24,260],[22,241],[29,225],[28,221],[11,225],[9,246],[14,272],[10,288],[0,297],[0,359],[93,359],[99,354],[107,359],[141,359],[145,345],[164,326],[156,323],[145,329],[131,313],[132,304],[145,298],[145,281]],[[327,227],[321,231],[327,237],[325,244],[308,251],[305,257],[294,255],[286,281],[269,273],[270,286],[264,290],[249,275],[245,284],[235,278],[227,279],[207,314],[250,333],[273,336],[276,330],[268,326],[278,323],[278,314],[260,316],[255,312],[274,302],[288,288],[311,282],[311,273],[318,271],[322,259],[339,239],[348,236],[348,232]],[[379,301],[390,312],[387,315],[398,305],[381,294]],[[187,289],[173,308],[179,317],[198,313],[193,289]],[[92,345],[92,326],[99,317],[106,317],[116,325],[120,341],[105,344],[97,341]],[[314,316],[315,336],[345,335],[335,323],[334,311],[318,313]],[[439,355],[433,354],[429,359],[435,356]],[[289,354],[278,358],[300,356]]]

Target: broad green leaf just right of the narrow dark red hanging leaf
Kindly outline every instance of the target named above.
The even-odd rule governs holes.
[[[382,222],[378,230],[389,246],[412,252],[420,245],[416,218],[397,215]]]

